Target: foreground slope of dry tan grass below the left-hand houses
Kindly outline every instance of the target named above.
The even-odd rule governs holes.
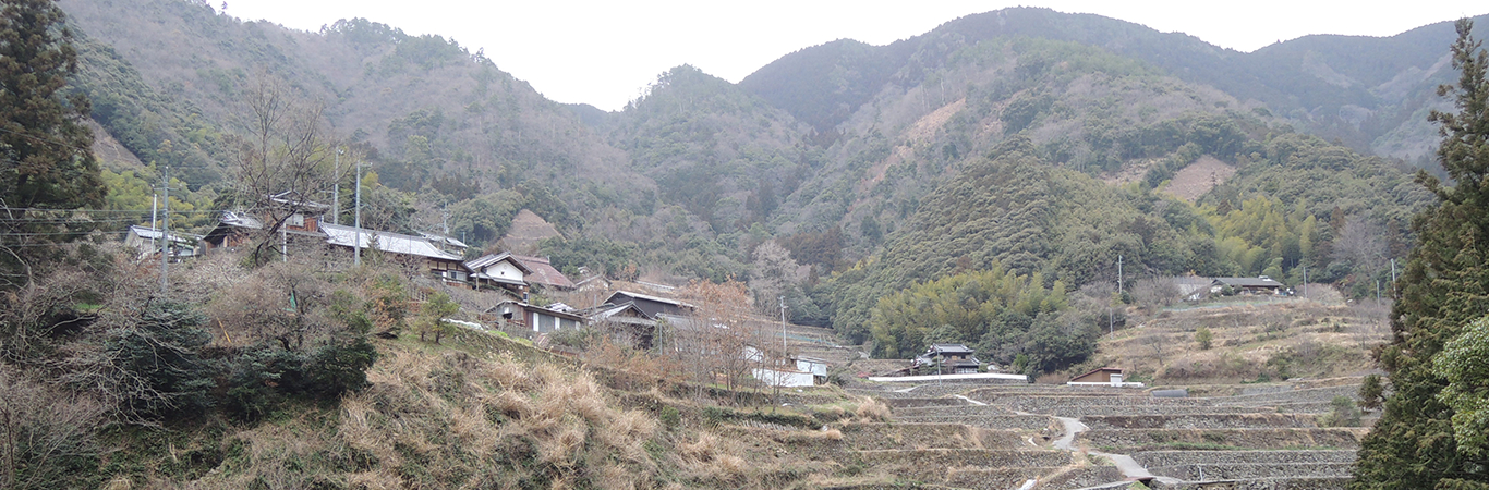
[[[634,359],[625,371],[591,368],[488,334],[456,334],[444,346],[405,337],[378,349],[372,386],[337,405],[286,407],[256,426],[115,433],[119,450],[104,478],[116,489],[774,489],[896,480],[855,463],[840,430],[816,430],[887,416],[838,389],[794,395],[795,410],[765,408],[773,404],[759,396],[731,405],[728,393],[649,377]]]

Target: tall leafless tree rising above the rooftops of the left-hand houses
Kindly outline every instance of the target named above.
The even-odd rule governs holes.
[[[253,264],[262,265],[284,238],[286,222],[326,211],[316,200],[331,192],[335,149],[322,107],[299,101],[287,83],[267,71],[250,80],[244,106],[244,136],[229,139],[237,150],[234,185],[238,204],[262,222],[249,252]]]

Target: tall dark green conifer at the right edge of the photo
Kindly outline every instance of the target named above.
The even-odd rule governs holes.
[[[1459,450],[1453,410],[1440,399],[1447,380],[1434,372],[1443,346],[1489,313],[1489,55],[1458,21],[1452,46],[1456,113],[1432,112],[1443,143],[1437,156],[1452,185],[1418,173],[1437,206],[1413,222],[1418,246],[1391,313],[1392,341],[1380,353],[1395,392],[1365,438],[1351,489],[1489,489],[1489,459]]]

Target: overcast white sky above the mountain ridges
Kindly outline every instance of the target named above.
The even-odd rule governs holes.
[[[222,0],[207,0],[220,9]],[[408,34],[441,34],[560,103],[616,110],[672,67],[739,82],[789,52],[837,39],[887,45],[954,18],[1010,6],[1097,13],[1181,31],[1237,51],[1306,34],[1394,36],[1489,12],[1471,1],[1310,0],[231,0],[228,13],[317,31],[368,18]],[[1474,10],[1477,9],[1477,10]],[[1443,49],[1447,49],[1444,45]]]

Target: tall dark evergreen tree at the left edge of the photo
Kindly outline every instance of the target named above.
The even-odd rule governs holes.
[[[104,186],[82,124],[82,94],[63,98],[77,71],[73,34],[51,0],[6,0],[0,7],[0,265],[25,267],[27,249],[76,237],[71,220],[36,209],[103,204]]]

